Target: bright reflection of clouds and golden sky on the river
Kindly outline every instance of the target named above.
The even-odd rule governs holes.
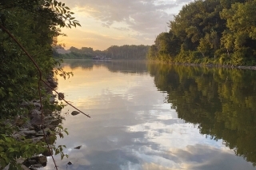
[[[101,75],[92,76],[96,73]],[[255,169],[234,156],[222,140],[207,139],[196,125],[178,119],[171,104],[165,103],[167,94],[158,91],[149,74],[111,73],[94,67],[76,69],[74,75],[79,77],[73,80],[74,86],[66,90],[60,82],[58,88],[68,100],[78,99],[74,103],[92,118],[66,117],[64,127],[70,135],[57,143],[66,144],[70,157],[57,158],[59,169],[66,169],[68,161],[73,163],[68,169],[78,170]],[[73,149],[78,145],[82,148]],[[45,169],[52,167],[49,160]]]

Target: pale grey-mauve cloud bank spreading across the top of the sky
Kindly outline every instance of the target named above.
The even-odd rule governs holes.
[[[173,18],[173,14],[168,11],[183,2],[189,1],[77,0],[69,6],[81,8],[83,13],[102,22],[102,26],[123,22],[131,30],[159,34],[160,30],[165,30],[166,22]]]

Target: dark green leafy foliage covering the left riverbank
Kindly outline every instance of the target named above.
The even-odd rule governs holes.
[[[30,53],[42,71],[42,78],[52,75],[57,61],[53,58],[56,37],[62,35],[59,27],[80,26],[72,17],[73,12],[62,2],[55,0],[2,0],[0,25],[4,26]],[[63,77],[62,69],[55,70]],[[21,106],[24,101],[38,99],[38,90],[46,97],[46,89],[38,89],[39,74],[29,57],[5,30],[0,29],[0,164],[1,169],[10,163],[17,169],[16,159],[41,153],[45,144],[32,143],[29,139],[15,140],[17,130],[14,119],[26,121],[29,110]],[[62,105],[50,105],[44,101],[44,109],[60,110]]]

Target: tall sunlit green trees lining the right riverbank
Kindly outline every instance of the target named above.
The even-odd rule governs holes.
[[[183,6],[147,57],[172,63],[256,65],[256,0],[198,0]]]

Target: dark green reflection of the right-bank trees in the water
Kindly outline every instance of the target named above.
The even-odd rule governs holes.
[[[149,65],[178,117],[198,124],[200,133],[256,163],[256,72],[238,69]]]

